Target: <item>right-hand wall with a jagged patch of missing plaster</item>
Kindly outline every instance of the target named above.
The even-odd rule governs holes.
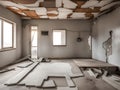
[[[105,50],[102,43],[109,38],[109,31],[113,31],[112,55],[108,62],[120,66],[120,8],[103,15],[93,24],[92,57],[105,61]]]

